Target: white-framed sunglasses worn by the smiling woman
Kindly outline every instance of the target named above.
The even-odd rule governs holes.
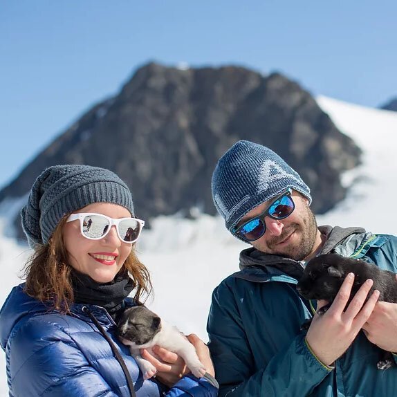
[[[116,225],[118,237],[124,243],[135,243],[138,240],[140,232],[145,225],[145,221],[136,218],[109,218],[102,214],[79,212],[71,214],[66,222],[80,221],[80,232],[86,239],[100,240],[103,239]]]

